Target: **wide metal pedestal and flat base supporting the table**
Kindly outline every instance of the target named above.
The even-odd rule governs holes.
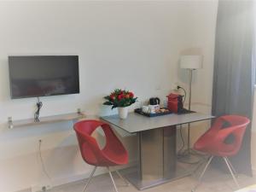
[[[138,137],[138,166],[124,176],[137,189],[148,189],[191,172],[177,166],[176,126],[141,131]]]

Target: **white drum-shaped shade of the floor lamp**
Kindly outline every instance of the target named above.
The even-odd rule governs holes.
[[[187,69],[202,68],[202,55],[182,55],[180,57],[180,67]]]

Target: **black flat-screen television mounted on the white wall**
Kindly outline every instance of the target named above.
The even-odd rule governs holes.
[[[12,99],[79,93],[79,56],[9,56],[9,81]]]

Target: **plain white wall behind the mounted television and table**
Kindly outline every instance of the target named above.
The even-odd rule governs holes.
[[[0,191],[45,181],[38,139],[43,139],[44,160],[55,183],[86,177],[91,170],[79,156],[72,122],[6,128],[9,116],[31,118],[36,103],[35,98],[10,99],[8,55],[79,55],[81,93],[42,98],[42,116],[47,116],[77,108],[101,114],[102,96],[114,88],[133,90],[141,102],[149,96],[165,98],[176,82],[188,80],[178,69],[179,55],[202,54],[204,68],[195,74],[193,102],[195,108],[209,112],[217,5],[217,1],[1,2]]]

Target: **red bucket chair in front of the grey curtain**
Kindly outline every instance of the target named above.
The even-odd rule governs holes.
[[[221,116],[216,119],[212,127],[195,142],[195,150],[211,155],[203,172],[201,172],[199,183],[201,183],[201,178],[207,171],[207,167],[210,165],[212,158],[214,156],[219,156],[224,159],[236,186],[239,187],[234,175],[234,173],[236,174],[236,171],[231,165],[228,157],[237,154],[241,148],[242,138],[249,123],[250,120],[246,117],[238,115]],[[228,137],[230,137],[231,142],[227,141]],[[192,191],[195,191],[199,183]]]

